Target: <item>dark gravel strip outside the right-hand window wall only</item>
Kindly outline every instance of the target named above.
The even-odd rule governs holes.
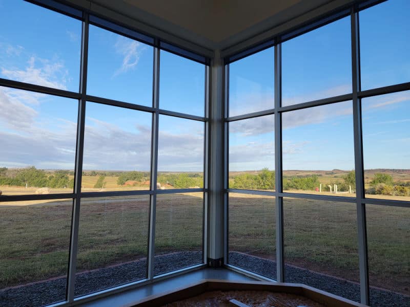
[[[273,260],[231,252],[229,253],[229,263],[242,269],[276,279],[276,262]],[[357,283],[288,265],[285,265],[284,273],[286,282],[307,284],[308,286],[335,295],[360,301],[360,286]],[[375,307],[410,307],[409,296],[387,290],[383,291],[371,288],[370,300],[371,305]]]

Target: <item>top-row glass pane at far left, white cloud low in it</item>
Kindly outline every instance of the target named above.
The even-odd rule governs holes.
[[[22,0],[0,8],[0,77],[78,92],[81,21]]]

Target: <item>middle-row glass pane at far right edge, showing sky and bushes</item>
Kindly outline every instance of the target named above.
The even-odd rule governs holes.
[[[365,194],[410,201],[410,91],[362,99]]]

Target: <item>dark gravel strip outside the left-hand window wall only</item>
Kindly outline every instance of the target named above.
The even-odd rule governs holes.
[[[155,275],[202,262],[202,252],[178,252],[155,257]],[[75,296],[112,288],[145,278],[146,259],[92,270],[75,277]],[[65,300],[67,278],[27,284],[0,291],[1,307],[37,307]]]

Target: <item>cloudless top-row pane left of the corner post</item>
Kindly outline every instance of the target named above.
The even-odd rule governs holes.
[[[161,50],[159,107],[204,116],[205,65]]]

